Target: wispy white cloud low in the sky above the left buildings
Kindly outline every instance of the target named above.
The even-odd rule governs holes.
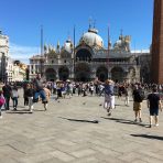
[[[40,47],[36,46],[22,46],[10,43],[10,57],[12,59],[19,59],[29,64],[29,58],[40,53]]]

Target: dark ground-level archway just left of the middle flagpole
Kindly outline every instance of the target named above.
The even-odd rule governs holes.
[[[64,80],[64,82],[66,79],[68,79],[68,77],[69,77],[69,69],[68,69],[67,66],[61,66],[58,68],[58,77],[59,77],[61,80]]]

